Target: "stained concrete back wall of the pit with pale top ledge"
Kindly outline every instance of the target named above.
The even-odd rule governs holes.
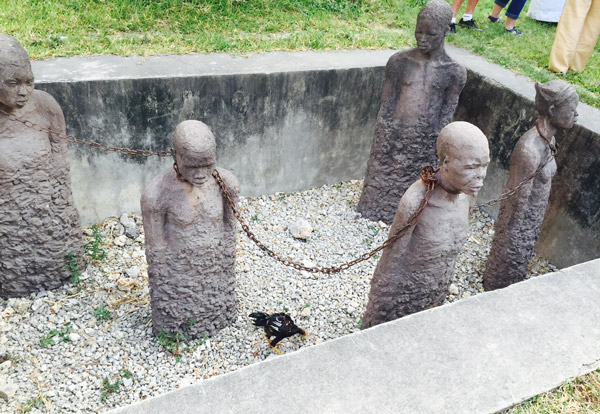
[[[244,195],[361,178],[390,51],[223,54],[35,62],[38,87],[64,107],[68,132],[111,146],[166,149],[185,119],[216,132],[219,165]],[[83,68],[83,69],[81,69]],[[71,146],[85,224],[139,211],[169,160]]]

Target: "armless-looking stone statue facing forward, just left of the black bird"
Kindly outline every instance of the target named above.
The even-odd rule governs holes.
[[[200,121],[184,121],[173,136],[175,165],[142,195],[154,334],[197,338],[236,318],[235,217],[212,172],[234,198],[233,174],[216,168],[216,144]]]

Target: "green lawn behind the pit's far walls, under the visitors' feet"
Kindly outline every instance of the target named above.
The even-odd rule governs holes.
[[[0,27],[15,36],[32,59],[97,54],[399,49],[414,45],[414,25],[421,3],[421,0],[3,0]],[[555,25],[526,17],[527,4],[517,21],[525,35],[505,35],[502,25],[485,22],[492,3],[493,0],[481,0],[475,10],[475,19],[484,28],[483,32],[459,30],[449,36],[448,42],[535,81],[565,79],[577,88],[583,102],[600,108],[600,45],[582,74],[556,75],[546,69]]]

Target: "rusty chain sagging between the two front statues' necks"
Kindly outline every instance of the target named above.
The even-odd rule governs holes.
[[[252,240],[258,246],[258,248],[260,250],[264,251],[267,255],[269,255],[270,257],[274,258],[275,260],[281,262],[285,266],[293,267],[296,270],[304,270],[309,273],[331,274],[331,273],[339,273],[342,270],[346,270],[360,262],[369,260],[377,252],[385,249],[390,244],[392,244],[393,242],[395,242],[396,240],[398,240],[399,238],[404,236],[411,227],[413,227],[415,224],[417,224],[417,220],[419,219],[419,216],[421,215],[421,213],[427,206],[427,203],[429,202],[429,199],[431,198],[431,195],[433,194],[433,189],[435,188],[435,185],[437,183],[437,178],[435,177],[435,173],[436,173],[436,170],[434,170],[432,167],[429,167],[429,166],[423,167],[421,169],[421,172],[420,172],[421,180],[423,180],[423,182],[425,183],[427,190],[425,192],[425,196],[423,197],[423,200],[421,200],[421,204],[419,205],[419,208],[417,209],[415,214],[408,220],[408,222],[406,223],[406,225],[404,227],[399,229],[391,237],[388,237],[388,239],[385,242],[383,242],[383,244],[381,244],[376,249],[373,249],[369,252],[363,253],[358,258],[351,260],[349,262],[346,262],[346,263],[343,263],[343,264],[340,264],[337,266],[330,266],[330,267],[318,267],[318,266],[308,267],[308,266],[304,266],[300,263],[295,263],[293,261],[284,259],[279,254],[275,253],[273,250],[269,249],[267,246],[262,244],[260,242],[260,240],[258,240],[258,238],[254,235],[254,233],[252,233],[252,231],[250,231],[250,228],[242,219],[242,216],[241,216],[239,210],[237,209],[237,207],[235,206],[235,203],[233,202],[231,193],[229,193],[229,190],[227,190],[227,187],[225,186],[225,183],[223,182],[223,179],[221,178],[221,176],[219,175],[217,170],[215,170],[213,172],[213,177],[215,177],[215,179],[217,180],[217,183],[219,184],[219,187],[221,187],[221,192],[223,193],[223,195],[227,201],[227,204],[229,204],[229,207],[231,208],[233,215],[241,224],[242,230],[244,230],[244,232],[246,233],[248,238],[250,240]]]

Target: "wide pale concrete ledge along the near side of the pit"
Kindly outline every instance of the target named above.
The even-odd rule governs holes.
[[[493,413],[600,366],[598,297],[595,260],[112,412]]]

